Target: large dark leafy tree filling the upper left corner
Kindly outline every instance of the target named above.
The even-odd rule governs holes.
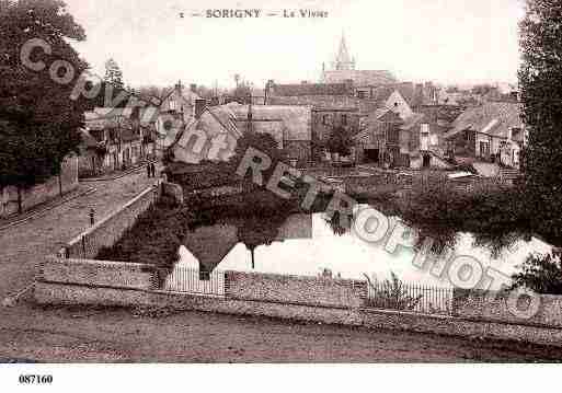
[[[85,101],[70,96],[88,65],[70,41],[85,39],[85,33],[59,0],[0,0],[0,187],[20,190],[59,174],[65,157],[78,152]],[[21,60],[20,49],[32,38],[50,48],[32,54],[33,61],[47,66],[43,71]],[[71,65],[72,81],[51,78],[55,60]],[[67,72],[57,71],[57,77]]]

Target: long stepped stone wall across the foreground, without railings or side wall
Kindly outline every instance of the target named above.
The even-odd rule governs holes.
[[[509,313],[505,296],[492,301],[456,290],[455,316],[445,316],[365,308],[363,280],[225,271],[225,296],[205,297],[154,290],[157,275],[150,265],[47,257],[34,297],[42,304],[171,307],[562,346],[562,297],[542,297],[527,321]]]

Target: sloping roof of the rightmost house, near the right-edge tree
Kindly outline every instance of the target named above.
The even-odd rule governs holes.
[[[520,111],[520,104],[509,102],[488,102],[481,106],[468,108],[452,123],[452,129],[445,135],[445,138],[454,137],[464,130],[485,131],[488,135],[507,138],[509,129],[523,128]]]

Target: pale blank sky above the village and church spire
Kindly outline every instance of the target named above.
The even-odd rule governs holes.
[[[515,82],[525,9],[524,0],[65,1],[87,32],[74,47],[92,70],[103,76],[114,58],[131,86],[231,88],[236,73],[255,86],[318,81],[342,34],[357,69],[387,69],[402,81]],[[259,9],[262,18],[192,16],[215,9]],[[282,18],[285,9],[328,18]]]

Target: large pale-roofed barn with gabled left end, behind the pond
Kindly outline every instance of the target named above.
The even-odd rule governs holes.
[[[196,114],[169,147],[171,160],[197,164],[228,160],[244,132],[269,134],[289,160],[305,165],[311,160],[312,107],[282,105],[207,106],[197,102]],[[216,148],[220,147],[220,151]]]

